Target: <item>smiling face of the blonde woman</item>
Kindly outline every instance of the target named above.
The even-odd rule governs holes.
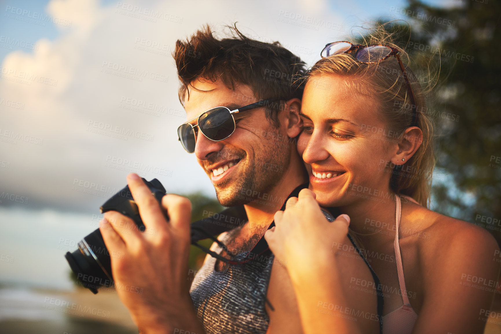
[[[345,77],[322,75],[308,81],[298,151],[321,205],[388,196],[391,174],[385,169],[398,145],[377,107],[376,101],[347,86]]]

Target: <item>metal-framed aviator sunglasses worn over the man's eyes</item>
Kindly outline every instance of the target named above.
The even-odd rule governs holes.
[[[229,110],[226,107],[215,107],[207,110],[198,117],[195,117],[177,128],[177,136],[188,153],[195,152],[196,135],[195,127],[198,127],[205,137],[215,142],[224,140],[235,131],[236,124],[233,114],[243,111],[269,106],[271,102],[280,101],[281,98],[267,99],[247,106]],[[191,125],[198,118],[197,124]]]

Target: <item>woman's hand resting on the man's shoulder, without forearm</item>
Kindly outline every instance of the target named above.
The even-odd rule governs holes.
[[[277,259],[287,263],[292,279],[311,272],[312,265],[332,266],[334,246],[348,234],[350,217],[340,215],[329,222],[309,189],[287,201],[285,211],[275,214],[275,227],[265,233],[265,239]]]

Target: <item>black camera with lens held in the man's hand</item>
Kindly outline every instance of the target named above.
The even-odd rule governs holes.
[[[148,182],[144,178],[143,181],[161,205],[162,197],[165,195],[165,188],[160,181],[153,179]],[[145,230],[129,186],[108,199],[100,210],[101,213],[118,211],[130,217],[139,231],[143,232]],[[92,292],[97,293],[97,289],[102,286],[113,286],[110,253],[104,244],[99,228],[83,238],[78,243],[78,249],[72,253],[67,252],[65,257],[78,280]]]

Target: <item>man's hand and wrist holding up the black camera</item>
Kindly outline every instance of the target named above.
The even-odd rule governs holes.
[[[129,174],[127,183],[146,230],[140,232],[132,219],[116,211],[106,212],[99,227],[110,255],[120,254],[111,255],[117,294],[141,332],[178,328],[201,334],[186,280],[191,203],[168,194],[162,208],[137,174]]]

